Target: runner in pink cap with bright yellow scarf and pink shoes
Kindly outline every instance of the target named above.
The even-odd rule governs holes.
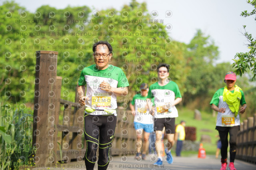
[[[234,161],[236,157],[236,137],[240,128],[240,117],[238,113],[244,113],[247,107],[244,92],[236,84],[236,74],[232,71],[226,73],[224,82],[226,86],[218,89],[213,95],[210,105],[212,109],[218,112],[216,130],[219,131],[221,141],[221,168],[226,170],[228,157],[228,133],[230,145],[230,170],[236,170]],[[239,106],[242,107],[239,109]]]

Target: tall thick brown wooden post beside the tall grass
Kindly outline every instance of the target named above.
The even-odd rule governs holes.
[[[57,51],[36,51],[36,77],[34,93],[34,122],[32,144],[36,149],[36,166],[45,167],[54,162],[52,119],[55,117]]]

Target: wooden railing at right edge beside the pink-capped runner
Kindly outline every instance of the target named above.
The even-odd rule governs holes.
[[[236,158],[256,164],[256,114],[240,125]]]

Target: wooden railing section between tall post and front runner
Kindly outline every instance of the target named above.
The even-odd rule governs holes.
[[[56,131],[58,142],[61,144],[61,150],[58,151],[56,161],[70,162],[73,159],[83,161],[86,151],[86,142],[84,135],[84,109],[78,103],[73,103],[60,99],[60,105],[64,107],[63,114],[60,112],[62,122],[56,120]],[[59,148],[60,149],[60,148]],[[62,152],[62,158],[60,157]]]

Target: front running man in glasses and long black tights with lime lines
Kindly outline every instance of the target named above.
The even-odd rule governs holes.
[[[116,128],[116,96],[127,95],[129,83],[120,68],[108,64],[112,57],[112,46],[108,42],[99,41],[92,50],[95,64],[85,67],[78,80],[79,103],[86,106],[84,160],[86,169],[93,170],[99,147],[98,170],[106,170]]]

